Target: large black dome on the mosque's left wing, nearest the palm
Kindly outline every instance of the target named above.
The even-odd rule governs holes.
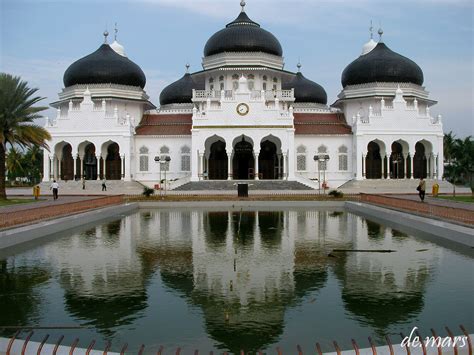
[[[138,65],[103,44],[94,53],[72,63],[64,73],[64,86],[75,84],[120,84],[145,87],[146,78]]]

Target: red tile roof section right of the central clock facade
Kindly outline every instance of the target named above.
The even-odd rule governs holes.
[[[352,134],[340,113],[295,113],[295,134]]]

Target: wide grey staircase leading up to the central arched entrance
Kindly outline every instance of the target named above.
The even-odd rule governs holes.
[[[206,180],[181,185],[174,191],[236,191],[237,184],[249,184],[249,190],[312,190],[297,181],[286,180]]]

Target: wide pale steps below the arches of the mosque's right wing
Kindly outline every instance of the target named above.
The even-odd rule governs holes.
[[[431,193],[431,188],[435,183],[439,185],[440,193],[450,193],[453,185],[447,181],[426,179],[426,192]],[[351,180],[338,187],[345,193],[417,193],[418,179],[367,179]]]

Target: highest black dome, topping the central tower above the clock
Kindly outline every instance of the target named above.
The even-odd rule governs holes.
[[[226,28],[215,33],[204,47],[204,56],[223,52],[264,52],[283,55],[280,42],[242,11]]]

